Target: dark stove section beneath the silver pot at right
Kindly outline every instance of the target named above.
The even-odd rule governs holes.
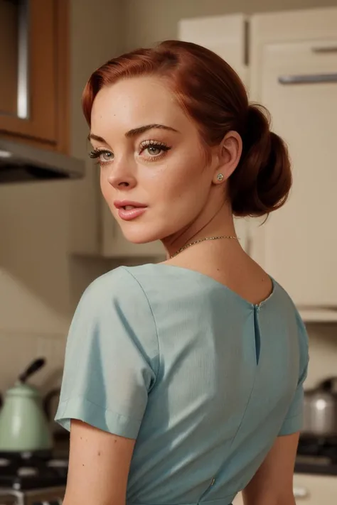
[[[301,437],[295,472],[337,476],[337,438]]]

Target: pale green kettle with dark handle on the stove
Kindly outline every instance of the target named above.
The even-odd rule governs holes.
[[[36,359],[6,392],[0,411],[0,452],[50,450],[53,444],[43,401],[38,390],[26,384],[41,369],[45,359]]]

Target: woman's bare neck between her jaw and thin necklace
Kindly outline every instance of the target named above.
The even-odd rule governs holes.
[[[206,237],[234,236],[235,227],[232,210],[224,204],[218,212],[203,212],[191,224],[163,239],[168,258],[181,247]]]

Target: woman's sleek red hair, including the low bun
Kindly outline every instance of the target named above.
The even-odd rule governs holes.
[[[144,75],[165,80],[178,104],[196,122],[205,145],[220,143],[230,130],[242,137],[242,156],[228,181],[235,215],[262,216],[284,204],[291,188],[284,142],[269,130],[267,110],[249,104],[245,87],[232,67],[200,45],[166,40],[156,48],[113,58],[95,70],[82,95],[89,126],[92,104],[102,87]]]

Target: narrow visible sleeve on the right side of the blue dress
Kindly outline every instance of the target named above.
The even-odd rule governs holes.
[[[303,384],[308,374],[309,365],[309,344],[306,327],[296,310],[296,322],[299,339],[299,381],[296,387],[294,398],[291,401],[289,411],[284,419],[279,435],[291,435],[301,430],[303,423],[303,401],[304,389]]]

